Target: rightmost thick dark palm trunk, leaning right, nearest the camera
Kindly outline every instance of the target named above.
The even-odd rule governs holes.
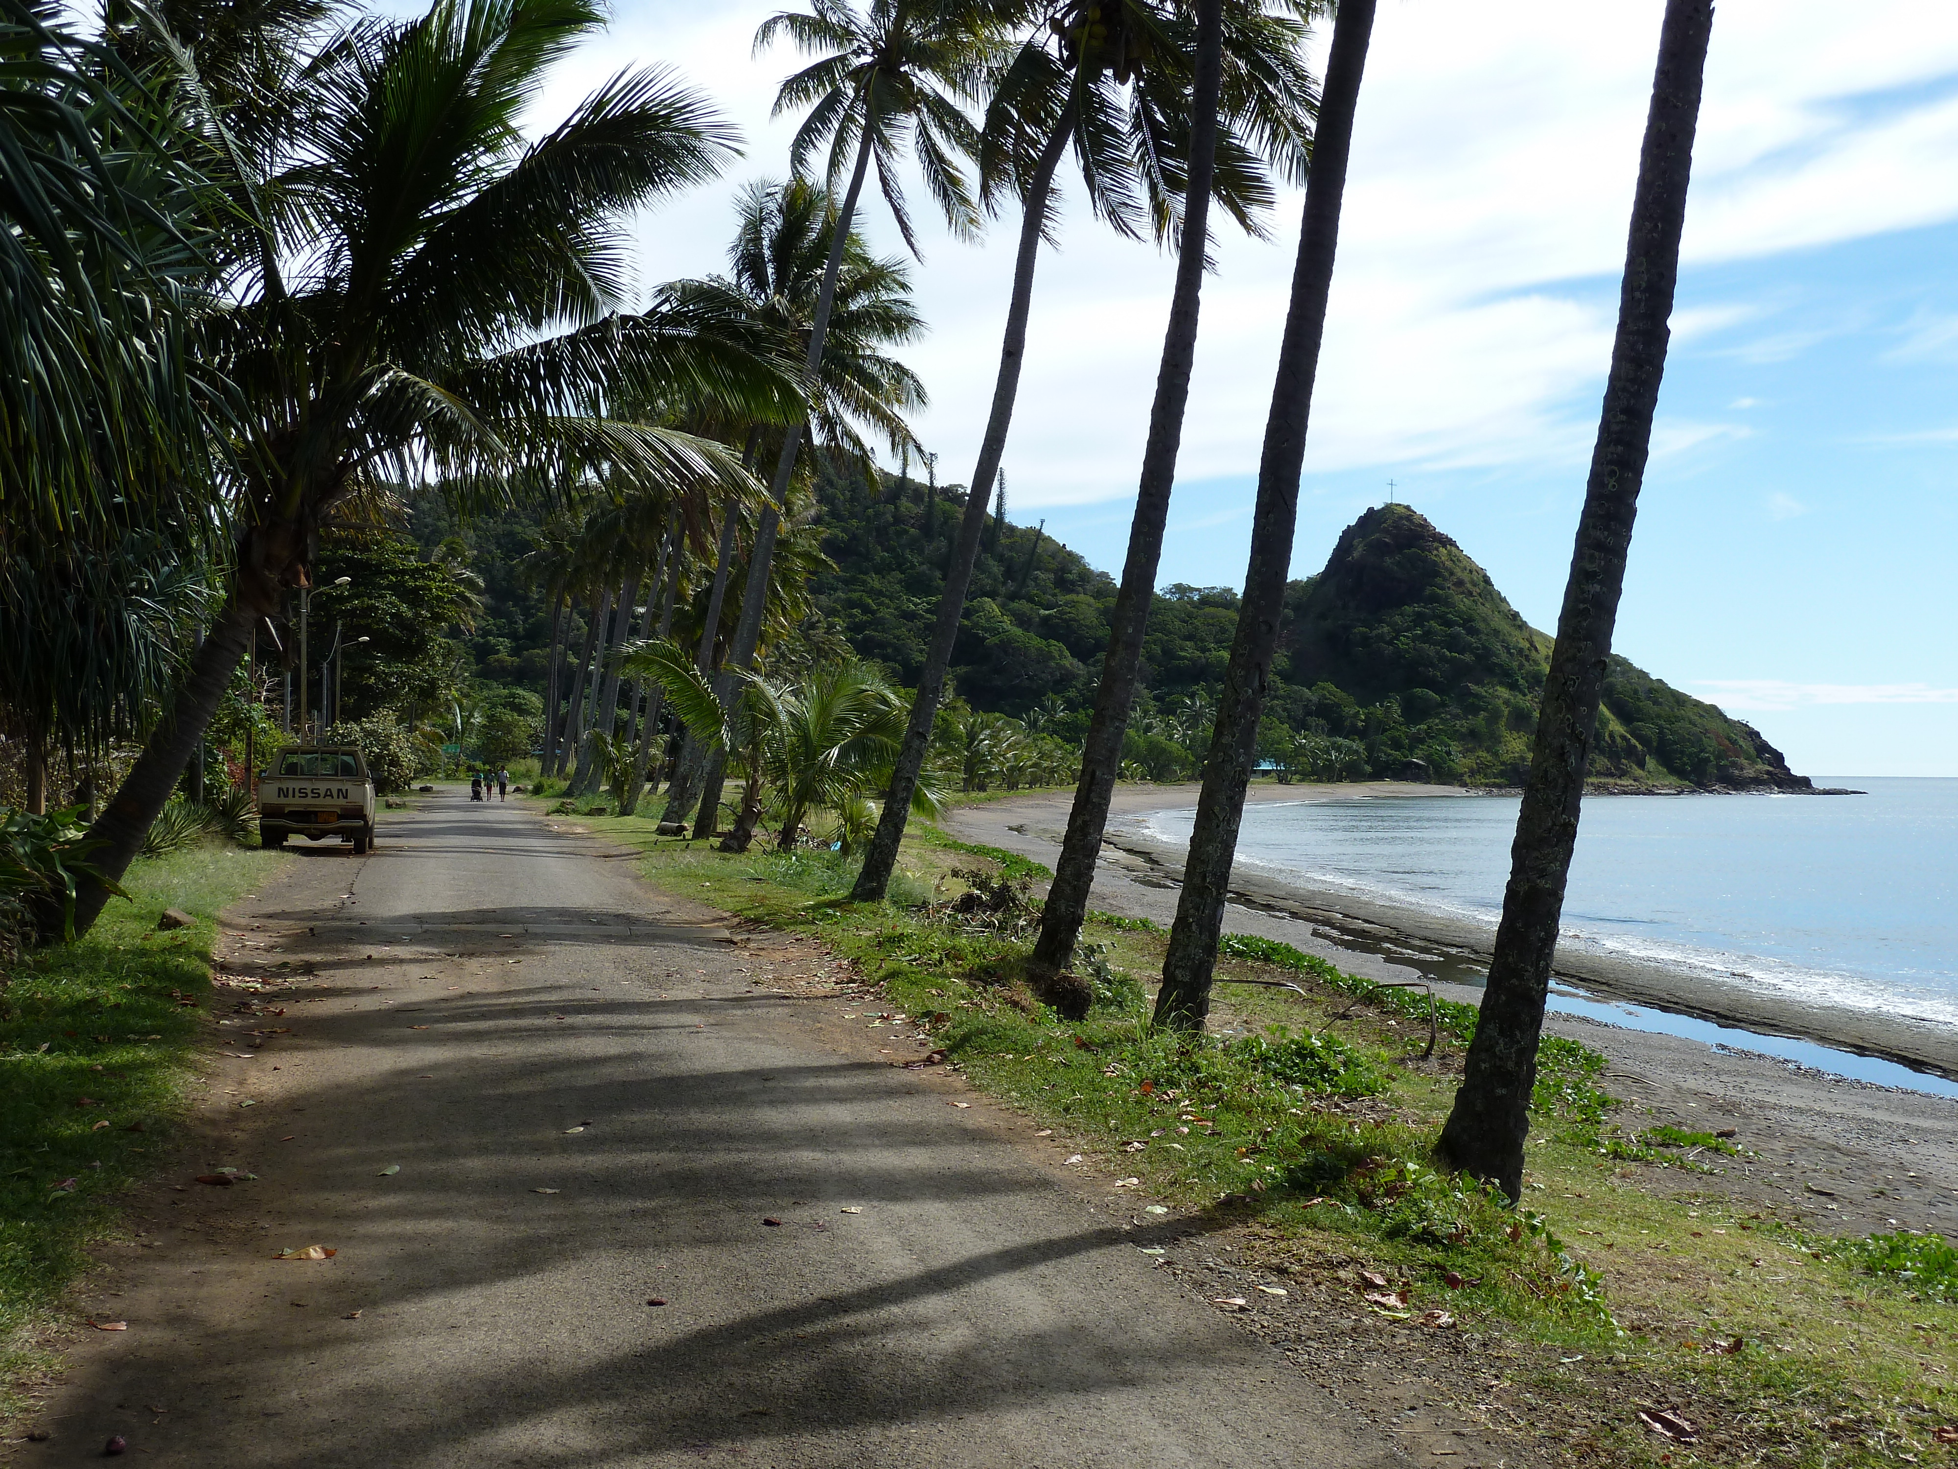
[[[1557,958],[1584,772],[1598,731],[1631,523],[1666,368],[1666,321],[1680,270],[1680,231],[1711,29],[1711,0],[1666,0],[1631,206],[1617,341],[1584,486],[1584,513],[1537,711],[1529,783],[1515,819],[1510,885],[1502,895],[1482,1015],[1468,1044],[1455,1109],[1441,1130],[1441,1156],[1467,1173],[1494,1179],[1510,1199],[1523,1189],[1523,1138],[1529,1134],[1529,1099],[1537,1081],[1543,1001]]]

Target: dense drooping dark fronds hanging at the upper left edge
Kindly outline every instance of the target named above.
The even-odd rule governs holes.
[[[57,748],[86,768],[168,691],[223,548],[188,141],[57,6],[0,4],[0,731],[35,813]]]

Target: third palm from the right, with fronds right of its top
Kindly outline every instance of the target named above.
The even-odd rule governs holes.
[[[1042,999],[1059,1003],[1065,1011],[1079,1009],[1083,991],[1079,985],[1057,985],[1057,975],[1073,958],[1075,940],[1087,921],[1095,862],[1108,827],[1108,803],[1114,799],[1116,776],[1122,770],[1122,742],[1136,699],[1136,680],[1142,674],[1142,639],[1155,593],[1155,572],[1163,558],[1169,496],[1175,488],[1177,454],[1183,445],[1183,413],[1189,405],[1190,368],[1196,360],[1196,323],[1220,125],[1234,123],[1247,135],[1261,139],[1273,155],[1273,165],[1296,180],[1304,172],[1304,139],[1310,112],[1316,108],[1312,84],[1298,59],[1302,35],[1294,29],[1292,18],[1271,16],[1261,4],[1241,6],[1226,4],[1226,0],[1198,0],[1196,14],[1196,76],[1190,90],[1190,157],[1183,196],[1177,286],[1169,306],[1169,329],[1163,335],[1155,402],[1149,409],[1149,437],[1142,454],[1142,484],[1136,490],[1122,588],[1108,619],[1108,650],[1095,691],[1095,715],[1083,742],[1081,780],[1067,815],[1067,834],[1053,870],[1053,883],[1042,909],[1040,938],[1028,964],[1034,991]],[[1232,22],[1230,27],[1226,27],[1226,18]],[[1226,55],[1239,61],[1228,104],[1224,94]],[[1251,74],[1271,84],[1245,86],[1243,63],[1251,63]],[[1261,106],[1247,108],[1247,94]]]

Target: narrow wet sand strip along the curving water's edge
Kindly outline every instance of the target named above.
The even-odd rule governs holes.
[[[1104,856],[1096,870],[1096,907],[1163,907],[1173,913],[1175,891],[1181,887],[1185,848],[1145,830],[1151,815],[1189,807],[1194,785],[1118,787],[1110,809]],[[1187,795],[1189,799],[1179,799]],[[1247,803],[1282,805],[1292,801],[1324,801],[1353,797],[1465,797],[1461,787],[1412,785],[1400,782],[1365,782],[1345,785],[1253,785]],[[963,807],[956,817],[961,825],[1001,827],[1048,848],[1051,858],[1059,827],[1065,827],[1071,793],[1030,795],[985,807]],[[989,819],[971,823],[979,813]],[[1018,823],[1008,817],[1022,817]],[[993,834],[999,844],[999,832]],[[1038,856],[1028,850],[1028,856]],[[1104,889],[1114,887],[1114,893]],[[1140,889],[1128,891],[1122,889]],[[1153,889],[1149,897],[1143,897]],[[1114,897],[1116,901],[1104,901]],[[1128,897],[1128,903],[1122,903]],[[1153,901],[1151,901],[1153,897]],[[1120,905],[1120,907],[1118,907]],[[1282,928],[1308,924],[1322,942],[1296,942],[1298,948],[1339,952],[1343,966],[1355,956],[1373,956],[1394,970],[1414,970],[1435,983],[1449,999],[1476,1003],[1488,966],[1494,930],[1463,919],[1429,913],[1412,905],[1373,901],[1349,891],[1316,887],[1302,879],[1284,879],[1269,870],[1239,864],[1232,874],[1232,905],[1267,915]],[[1157,917],[1140,913],[1138,917]],[[1228,924],[1241,926],[1241,924]],[[1302,938],[1302,936],[1300,936]],[[1361,966],[1365,970],[1365,966]],[[1690,970],[1658,960],[1633,960],[1561,946],[1553,977],[1584,991],[1586,997],[1641,1005],[1694,1020],[1731,1026],[1762,1036],[1782,1036],[1809,1042],[1833,1052],[1848,1052],[1903,1066],[1909,1071],[1958,1081],[1958,1034],[1948,1026],[1919,1022],[1876,1011],[1842,1005],[1801,1003],[1772,991],[1725,985]]]

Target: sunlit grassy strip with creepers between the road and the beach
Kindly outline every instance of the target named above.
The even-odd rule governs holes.
[[[1703,1179],[1745,1140],[1621,1105],[1598,1052],[1545,1044],[1510,1207],[1431,1160],[1470,1007],[1230,936],[1208,1034],[1175,1034],[1149,1024],[1143,987],[1167,934],[1091,913],[1077,970],[1095,1003],[1069,1024],[1024,981],[1038,930],[1026,887],[1046,876],[1024,858],[914,823],[891,899],[854,905],[840,852],[724,854],[644,819],[593,830],[644,848],[656,883],[852,960],[862,985],[842,991],[842,1013],[928,1036],[893,1064],[956,1067],[1051,1128],[1063,1158],[1134,1197],[1138,1220],[1228,1232],[1247,1265],[1318,1293],[1329,1330],[1437,1361],[1453,1346],[1461,1381],[1437,1389],[1453,1387],[1468,1420],[1504,1422],[1492,1377],[1555,1402],[1512,1424],[1533,1461],[1954,1455],[1938,1436],[1958,1422],[1950,1246],[1831,1240],[1735,1205]]]

